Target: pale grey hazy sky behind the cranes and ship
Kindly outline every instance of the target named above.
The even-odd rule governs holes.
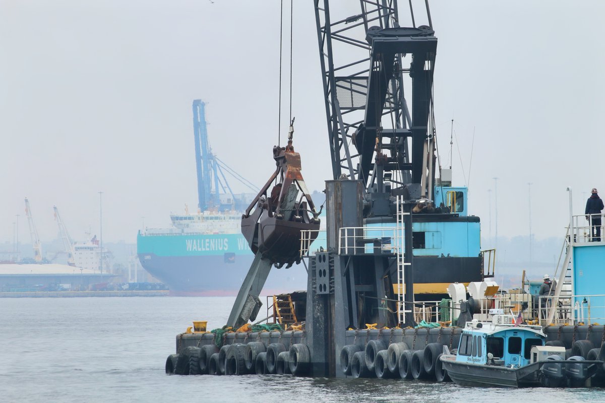
[[[358,4],[331,7],[356,15]],[[496,222],[499,236],[528,235],[530,213],[534,237],[563,237],[567,186],[576,214],[592,187],[605,194],[605,3],[430,4],[442,165],[453,118],[454,184],[469,186],[484,239]],[[99,234],[102,206],[107,242],[135,242],[143,225],[166,227],[169,213],[195,207],[196,98],[208,102],[222,161],[258,185],[272,173],[277,0],[0,0],[0,52],[0,243],[13,241],[17,219],[29,241],[25,197],[42,240],[57,236],[54,204],[74,239]],[[294,4],[292,60],[294,146],[309,189],[321,190],[332,178],[312,1]]]

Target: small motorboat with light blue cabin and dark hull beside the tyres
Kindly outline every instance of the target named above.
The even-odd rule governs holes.
[[[491,309],[492,321],[473,320],[462,330],[456,353],[444,347],[442,367],[463,386],[565,387],[583,386],[603,368],[599,360],[581,356],[565,359],[565,348],[546,346],[540,326],[521,324],[520,315]]]

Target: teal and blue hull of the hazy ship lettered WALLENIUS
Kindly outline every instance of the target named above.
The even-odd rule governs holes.
[[[143,268],[165,283],[171,295],[236,295],[253,254],[241,234],[166,234],[137,236]],[[264,292],[307,288],[302,265],[273,268]]]

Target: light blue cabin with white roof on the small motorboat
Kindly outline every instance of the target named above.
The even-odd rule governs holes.
[[[546,335],[538,326],[514,326],[514,320],[514,315],[496,315],[492,322],[467,323],[460,336],[456,361],[506,367],[530,364],[531,347],[544,346]]]

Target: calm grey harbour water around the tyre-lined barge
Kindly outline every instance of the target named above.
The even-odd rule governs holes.
[[[169,376],[191,320],[219,327],[233,298],[0,298],[0,402],[604,402],[603,389],[292,376]]]

